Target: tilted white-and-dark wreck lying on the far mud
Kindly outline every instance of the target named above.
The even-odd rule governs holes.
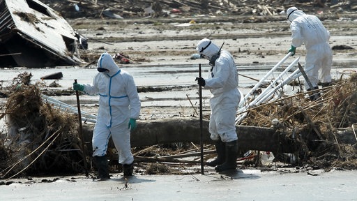
[[[55,10],[37,0],[0,0],[0,68],[78,65],[88,47]],[[85,48],[86,49],[86,48]]]

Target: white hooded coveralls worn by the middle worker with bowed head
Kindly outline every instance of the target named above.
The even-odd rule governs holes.
[[[208,45],[208,43],[211,44]],[[220,47],[207,38],[200,40],[197,44],[197,51],[207,59],[211,59],[219,50]],[[221,139],[222,142],[237,140],[235,119],[241,94],[237,88],[236,64],[229,52],[221,50],[220,57],[215,60],[215,65],[211,68],[205,82],[204,89],[210,89],[213,94],[210,99],[211,117],[208,128],[211,139],[215,141]]]

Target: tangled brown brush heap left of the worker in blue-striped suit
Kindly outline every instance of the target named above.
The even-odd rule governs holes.
[[[77,116],[43,103],[39,87],[28,84],[30,78],[22,73],[8,89],[12,92],[2,118],[9,129],[0,135],[1,177],[83,172]]]

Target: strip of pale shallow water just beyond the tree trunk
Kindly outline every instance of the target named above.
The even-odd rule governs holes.
[[[283,57],[283,55],[282,55]],[[277,57],[278,58],[278,57]],[[282,71],[289,66],[291,61],[295,58],[287,59],[284,64],[278,68],[271,76],[266,79],[268,83],[274,80]],[[206,61],[199,59],[192,63],[202,63],[202,76],[208,76],[209,66]],[[278,62],[278,61],[277,61]],[[303,62],[303,61],[302,61]],[[158,65],[158,66],[135,66],[135,65],[123,65],[121,68],[127,70],[133,77],[135,77],[135,82],[137,87],[153,87],[160,89],[158,92],[149,91],[139,93],[140,100],[142,101],[142,106],[190,106],[191,103],[188,100],[194,100],[194,104],[197,104],[198,87],[195,82],[195,77],[198,76],[198,65],[199,64],[185,64],[179,65],[174,64],[170,66]],[[276,64],[238,64],[239,76],[239,89],[243,94],[247,94],[250,89],[257,84],[257,80],[261,80],[266,73],[273,68]],[[339,66],[333,66],[331,74],[333,79],[340,79],[341,75],[349,74],[351,72],[356,72],[356,64],[335,64]],[[295,70],[297,66],[293,68]],[[293,71],[291,70],[291,71]],[[80,68],[80,67],[61,67],[61,68],[46,68],[46,69],[2,69],[1,70],[1,85],[3,87],[8,86],[12,83],[14,77],[20,75],[21,73],[31,73],[33,75],[31,83],[42,83],[46,87],[45,90],[66,90],[72,89],[72,84],[75,79],[79,83],[91,83],[94,75],[96,75],[97,70],[95,66],[91,68]],[[60,80],[41,80],[40,77],[45,75],[50,75],[52,73],[61,72],[63,78]],[[303,78],[301,78],[303,81]],[[49,87],[52,82],[59,84],[58,87]],[[162,89],[162,90],[161,90]],[[297,90],[297,89],[296,89]],[[297,91],[295,91],[296,93]],[[291,91],[291,93],[294,93]],[[203,90],[204,102],[208,101],[211,96],[208,90]],[[56,96],[54,97],[60,101],[63,101],[70,105],[76,105],[76,98],[72,96]],[[82,95],[81,100],[83,104],[95,104],[98,101],[97,96],[86,96]]]

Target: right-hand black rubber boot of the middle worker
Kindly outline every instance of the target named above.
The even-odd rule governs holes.
[[[234,170],[237,167],[238,157],[238,140],[225,143],[226,158],[225,163],[215,167],[215,171],[222,172],[225,170]]]

